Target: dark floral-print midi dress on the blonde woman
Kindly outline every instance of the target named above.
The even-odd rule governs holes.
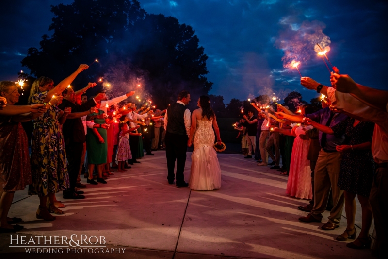
[[[32,97],[32,104],[42,104],[47,93],[36,93]],[[56,105],[51,106],[32,121],[30,158],[32,184],[29,186],[29,194],[38,194],[42,197],[69,187],[65,141],[58,123],[60,111]]]

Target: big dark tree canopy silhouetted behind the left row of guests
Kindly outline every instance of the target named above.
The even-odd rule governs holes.
[[[104,76],[112,80],[108,90],[117,95],[138,90],[140,80],[146,86],[144,95],[151,94],[160,107],[175,101],[183,88],[194,96],[211,89],[204,48],[193,28],[174,17],[148,15],[137,0],[74,0],[52,6],[51,12],[53,34],[43,35],[40,49],[30,48],[22,60],[36,77],[59,82],[79,64],[97,58],[99,62],[76,78],[75,86]]]

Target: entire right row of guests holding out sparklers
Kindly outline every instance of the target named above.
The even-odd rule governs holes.
[[[322,213],[329,210],[328,222],[321,228],[334,230],[345,207],[347,227],[336,239],[352,239],[347,247],[368,249],[374,219],[374,251],[387,258],[388,92],[356,84],[334,69],[331,87],[301,78],[302,86],[324,95],[322,109],[314,111],[303,104],[293,113],[277,104],[274,112],[269,106],[252,103],[252,109],[234,128],[242,132],[245,158],[252,158],[254,152],[258,166],[272,166],[288,175],[287,195],[310,200],[307,206],[298,207],[308,212],[300,221],[321,222]],[[358,236],[356,195],[362,211]]]

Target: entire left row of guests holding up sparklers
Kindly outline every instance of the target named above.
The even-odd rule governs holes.
[[[51,213],[64,214],[56,193],[63,191],[64,199],[85,198],[82,173],[90,185],[106,184],[113,169],[125,172],[140,163],[136,159],[144,156],[143,146],[146,155],[161,149],[166,110],[119,104],[133,91],[111,100],[103,91],[88,98],[86,91],[96,83],[74,91],[69,85],[85,69],[81,64],[56,86],[52,79],[39,77],[28,105],[14,105],[20,96],[17,83],[0,81],[1,233],[23,229],[16,224],[20,218],[8,217],[16,190],[28,186],[30,195],[39,196],[36,218],[52,221]],[[25,121],[33,122],[31,153],[21,124]]]

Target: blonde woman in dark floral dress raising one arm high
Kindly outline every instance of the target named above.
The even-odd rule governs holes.
[[[36,211],[38,219],[55,220],[49,210],[56,214],[64,214],[54,206],[54,201],[55,193],[69,187],[65,143],[60,128],[60,123],[65,122],[68,112],[60,110],[56,104],[62,101],[62,96],[59,95],[66,87],[79,73],[88,68],[88,65],[81,64],[74,73],[55,87],[53,80],[44,76],[32,83],[28,103],[44,103],[49,107],[44,114],[33,120],[31,139],[32,184],[29,186],[29,194],[39,196],[40,205]]]

